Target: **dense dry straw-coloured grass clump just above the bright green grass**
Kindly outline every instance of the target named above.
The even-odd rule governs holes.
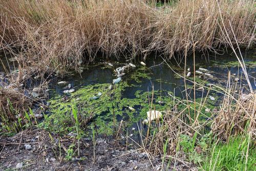
[[[256,92],[240,94],[239,98],[225,96],[220,111],[211,126],[220,139],[248,133],[256,140]]]

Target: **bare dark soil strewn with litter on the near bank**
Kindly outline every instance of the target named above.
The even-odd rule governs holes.
[[[126,149],[113,138],[100,137],[94,148],[90,139],[81,139],[80,157],[65,160],[72,138],[60,138],[42,130],[26,130],[13,137],[0,137],[0,170],[161,170],[160,157]],[[77,154],[77,147],[74,153]],[[166,165],[164,167],[166,168]],[[174,168],[174,163],[169,169]],[[176,170],[197,170],[176,161]]]

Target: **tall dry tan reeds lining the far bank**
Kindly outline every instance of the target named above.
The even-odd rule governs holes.
[[[65,71],[94,60],[97,52],[146,58],[148,52],[161,51],[171,57],[193,45],[200,51],[227,45],[218,1],[181,0],[165,8],[152,2],[3,0],[3,47],[22,52],[18,60],[23,66],[40,63],[42,69]],[[230,31],[231,24],[239,44],[255,44],[254,2],[224,0],[220,9],[226,29]]]

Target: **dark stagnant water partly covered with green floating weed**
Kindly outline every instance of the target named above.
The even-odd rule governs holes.
[[[252,89],[255,90],[256,51],[243,50],[242,55]],[[4,57],[2,56],[1,58]],[[136,131],[141,128],[143,129],[141,121],[146,119],[146,112],[151,109],[152,104],[150,102],[153,88],[153,110],[165,111],[172,109],[174,103],[172,96],[180,99],[185,97],[184,78],[178,76],[178,74],[183,75],[184,59],[177,61],[173,58],[163,61],[161,56],[154,54],[147,57],[145,67],[140,65],[139,60],[128,61],[126,64],[132,62],[136,65],[136,68],[130,68],[125,71],[126,74],[122,77],[122,81],[113,86],[112,90],[108,88],[112,84],[113,79],[117,77],[114,70],[124,66],[125,62],[108,62],[114,66],[111,67],[106,63],[102,63],[95,67],[83,69],[83,72],[80,74],[71,74],[51,82],[51,91],[49,91],[49,102],[51,105],[47,111],[50,119],[48,118],[46,121],[46,127],[51,127],[51,124],[54,123],[53,131],[71,131],[72,129],[68,127],[69,122],[72,122],[72,115],[70,113],[72,106],[77,105],[83,120],[87,120],[90,115],[93,116],[90,119],[90,123],[95,124],[99,133],[112,134],[113,125],[118,127],[120,121],[123,120],[126,134],[132,133],[133,136],[137,136]],[[6,63],[4,65],[7,66]],[[232,83],[240,84],[243,91],[248,90],[248,83],[244,79],[242,68],[239,67],[238,60],[231,51],[222,55],[207,54],[207,56],[198,53],[196,54],[196,70],[199,67],[207,69],[206,73],[213,76],[201,76],[200,78],[200,75],[197,74],[196,81],[202,86],[209,87],[210,84],[214,84],[225,89],[228,72],[230,72]],[[193,56],[187,58],[187,68],[193,70]],[[0,68],[0,71],[4,71],[3,67]],[[193,80],[193,74],[188,78]],[[235,81],[235,78],[239,78],[239,81]],[[59,81],[70,83],[71,89],[75,89],[75,92],[63,94],[64,90],[68,90],[67,84],[59,85],[57,84]],[[186,84],[189,98],[194,99],[193,83],[186,81]],[[201,98],[206,96],[207,90],[202,91],[200,89],[201,86],[196,88],[196,99],[200,101]],[[91,99],[97,96],[98,93],[102,94],[98,99]],[[222,94],[212,90],[209,95],[214,97],[214,100],[208,96],[206,108],[212,110],[218,105]],[[148,98],[150,98],[150,102],[148,102]],[[163,101],[163,104],[159,104],[158,101]],[[130,110],[129,107],[134,108],[135,111]],[[209,117],[205,113],[200,119],[206,120]],[[137,138],[133,136],[132,138]]]

